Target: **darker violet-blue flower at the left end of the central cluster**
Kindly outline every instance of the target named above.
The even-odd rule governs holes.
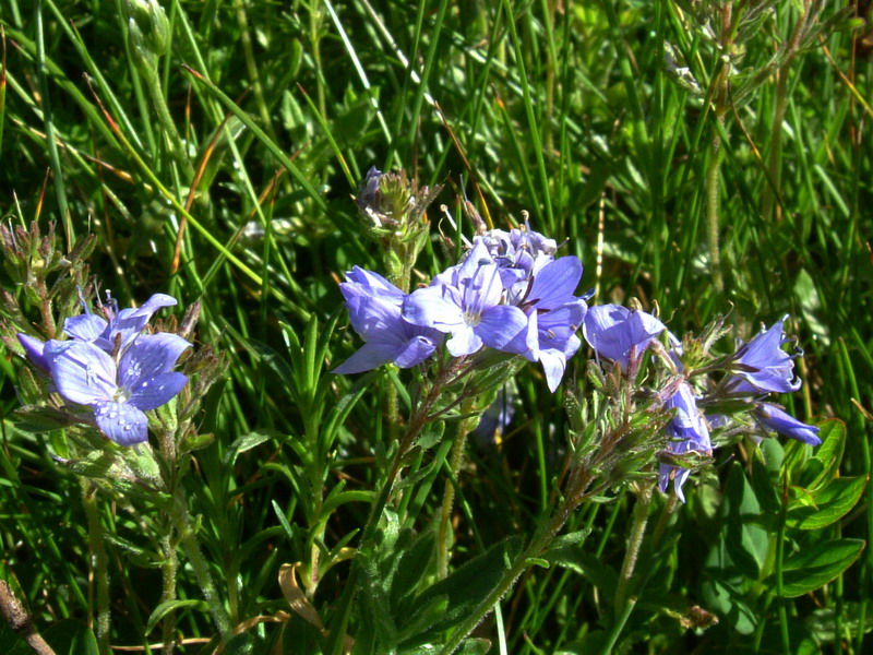
[[[405,321],[406,294],[381,275],[355,266],[339,290],[346,299],[351,326],[366,342],[334,373],[360,373],[393,361],[410,368],[433,354],[443,335],[438,330]]]

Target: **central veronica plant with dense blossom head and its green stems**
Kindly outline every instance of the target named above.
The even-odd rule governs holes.
[[[576,291],[583,274],[577,258],[559,255],[555,241],[528,224],[510,230],[481,226],[468,246],[461,261],[411,293],[359,267],[349,271],[340,285],[351,326],[364,345],[334,372],[363,372],[384,364],[412,369],[410,396],[415,398],[364,528],[361,557],[356,559],[340,605],[345,611],[359,576],[366,575],[364,553],[373,547],[376,526],[408,453],[434,443],[421,439],[426,429],[439,439],[443,421],[453,419],[447,461],[456,475],[467,434],[525,361],[539,362],[548,388],[555,391],[567,360],[579,348],[576,332],[587,303]],[[436,519],[436,571],[442,579],[449,575],[453,500],[454,487],[446,483]],[[346,615],[340,611],[339,616]]]

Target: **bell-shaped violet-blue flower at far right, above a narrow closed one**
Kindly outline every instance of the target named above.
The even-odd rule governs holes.
[[[728,389],[734,393],[790,392],[800,389],[800,379],[794,377],[793,357],[782,350],[786,338],[782,323],[788,317],[776,321],[767,331],[762,331],[748,344],[743,344],[733,356],[734,378]]]

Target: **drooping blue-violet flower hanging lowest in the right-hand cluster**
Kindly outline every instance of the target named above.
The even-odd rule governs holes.
[[[690,452],[710,454],[713,443],[709,440],[709,427],[706,418],[697,409],[694,392],[686,382],[681,382],[677,392],[665,403],[668,409],[675,409],[675,416],[667,426],[667,436],[670,438],[668,449],[671,453],[683,455]],[[672,464],[661,464],[658,476],[658,487],[667,491],[670,480],[673,480],[675,495],[685,502],[682,486],[685,484],[691,471]]]

